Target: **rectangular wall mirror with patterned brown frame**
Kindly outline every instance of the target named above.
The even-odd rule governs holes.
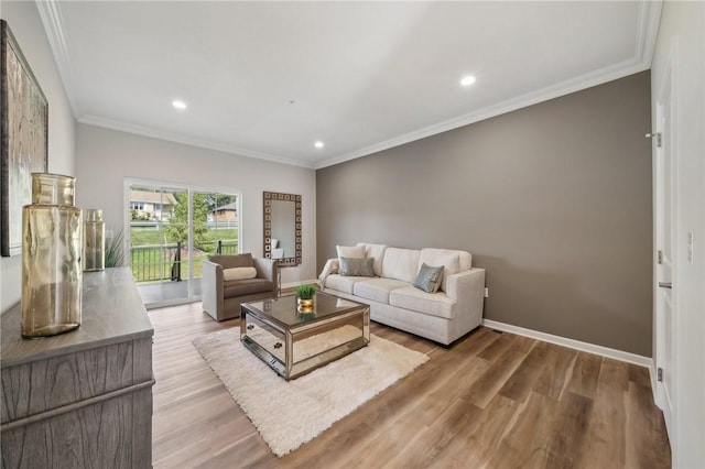
[[[301,264],[301,196],[264,192],[264,257]]]

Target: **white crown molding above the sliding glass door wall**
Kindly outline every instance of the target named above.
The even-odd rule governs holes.
[[[133,123],[121,122],[118,120],[107,119],[99,116],[86,114],[78,119],[78,122],[88,126],[102,127],[105,129],[117,130],[120,132],[133,133],[137,135],[149,137],[158,140],[165,140],[174,143],[182,143],[185,145],[197,146],[207,150],[215,150],[224,153],[231,153],[238,156],[252,157],[257,160],[270,161],[272,163],[286,164],[290,166],[305,167],[313,170],[313,166],[303,163],[297,160],[286,159],[283,156],[271,155],[269,153],[258,152],[254,150],[241,149],[226,143],[214,142],[210,140],[197,139],[188,135],[183,135],[175,132],[170,132],[161,129],[153,129],[150,127],[138,126]]]

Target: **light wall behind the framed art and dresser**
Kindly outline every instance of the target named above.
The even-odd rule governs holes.
[[[48,101],[48,171],[75,175],[76,120],[64,90],[36,4],[2,0],[0,17],[8,22]],[[20,302],[22,255],[0,258],[0,312]]]

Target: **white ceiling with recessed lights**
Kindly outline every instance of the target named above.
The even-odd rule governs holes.
[[[78,121],[316,168],[648,69],[661,11],[650,1],[37,7]],[[463,88],[467,74],[477,83]],[[172,108],[176,98],[188,109]]]

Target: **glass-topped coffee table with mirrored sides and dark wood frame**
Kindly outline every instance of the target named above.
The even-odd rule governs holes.
[[[294,295],[240,305],[240,340],[285,380],[345,357],[370,341],[370,307],[326,293],[313,308]]]

